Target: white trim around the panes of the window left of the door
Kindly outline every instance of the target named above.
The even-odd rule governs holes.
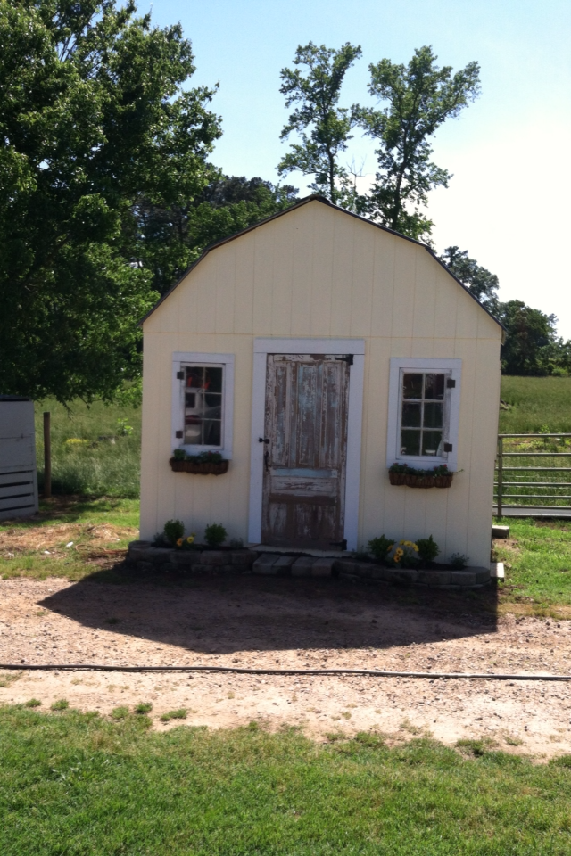
[[[199,363],[203,366],[224,366],[222,387],[222,447],[184,445],[177,437],[178,431],[185,430],[185,388],[178,380],[177,373],[186,363]],[[234,428],[234,354],[210,354],[197,351],[177,350],[172,355],[172,416],[170,449],[185,449],[189,455],[200,452],[217,451],[226,460],[232,459]]]

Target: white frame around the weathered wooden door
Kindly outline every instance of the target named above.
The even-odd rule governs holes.
[[[345,473],[345,523],[343,538],[348,550],[357,549],[359,530],[360,440],[363,422],[364,339],[254,339],[252,374],[252,445],[250,449],[250,510],[248,541],[261,542],[261,511],[264,476],[266,410],[266,366],[268,354],[352,354],[349,368],[347,414],[347,464]]]

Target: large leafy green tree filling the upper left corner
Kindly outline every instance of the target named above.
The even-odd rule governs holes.
[[[132,0],[0,0],[0,390],[111,399],[156,297],[133,202],[203,191],[219,119]]]

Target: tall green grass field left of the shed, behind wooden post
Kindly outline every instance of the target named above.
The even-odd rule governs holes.
[[[140,407],[87,407],[75,401],[66,410],[54,400],[37,402],[36,450],[39,489],[44,483],[43,412],[52,414],[52,491],[87,497],[139,495]]]

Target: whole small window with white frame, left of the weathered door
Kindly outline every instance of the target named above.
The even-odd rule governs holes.
[[[173,449],[231,457],[233,386],[233,354],[173,355]]]

